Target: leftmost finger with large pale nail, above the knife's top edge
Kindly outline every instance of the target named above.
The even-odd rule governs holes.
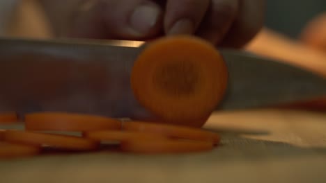
[[[88,5],[90,8],[76,13],[73,35],[139,40],[157,35],[162,29],[162,10],[153,1],[95,0],[87,3],[93,6]]]

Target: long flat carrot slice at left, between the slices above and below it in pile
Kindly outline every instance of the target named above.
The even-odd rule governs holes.
[[[51,146],[67,150],[94,150],[99,145],[98,141],[80,137],[16,130],[7,130],[4,132],[4,139],[13,143],[22,143],[31,146]]]

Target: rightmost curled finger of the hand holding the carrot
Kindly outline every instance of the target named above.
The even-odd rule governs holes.
[[[240,48],[249,42],[263,27],[265,1],[238,0],[239,12],[230,30],[220,44]]]

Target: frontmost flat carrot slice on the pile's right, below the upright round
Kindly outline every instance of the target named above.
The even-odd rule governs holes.
[[[178,141],[172,139],[132,139],[121,142],[121,149],[130,153],[192,153],[212,150],[213,145],[206,141]]]

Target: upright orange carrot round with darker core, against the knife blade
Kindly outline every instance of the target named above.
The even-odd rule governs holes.
[[[201,127],[224,97],[227,69],[215,46],[179,35],[150,42],[131,74],[135,97],[166,123]]]

